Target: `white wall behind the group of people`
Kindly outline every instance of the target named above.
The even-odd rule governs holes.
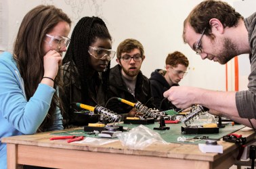
[[[238,0],[226,1],[232,5]],[[148,78],[156,68],[164,68],[168,53],[178,50],[190,61],[190,72],[180,84],[225,91],[225,66],[209,60],[202,61],[182,40],[184,19],[200,2],[201,0],[8,0],[7,49],[12,51],[20,22],[30,9],[39,4],[56,5],[70,16],[72,27],[83,16],[102,18],[113,38],[112,49],[116,49],[127,38],[139,40],[146,53],[142,72]],[[114,65],[115,59],[112,61],[112,66]]]

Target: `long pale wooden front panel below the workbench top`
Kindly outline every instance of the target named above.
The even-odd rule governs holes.
[[[211,163],[196,160],[155,158],[142,155],[98,153],[20,145],[18,163],[51,168],[209,168]],[[46,154],[46,155],[45,155]]]

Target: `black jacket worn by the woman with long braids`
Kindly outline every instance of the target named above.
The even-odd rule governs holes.
[[[70,64],[68,62],[60,70],[64,82],[64,89],[60,90],[60,99],[62,99],[64,107],[64,128],[85,126],[88,123],[98,122],[99,116],[78,113],[85,112],[85,110],[77,107],[74,103],[83,103],[91,106],[104,105],[104,92],[102,90],[100,74],[97,72],[93,78],[88,80],[83,88],[84,90],[82,90],[81,78],[74,63]],[[82,95],[85,95],[85,93],[89,97],[83,98]]]

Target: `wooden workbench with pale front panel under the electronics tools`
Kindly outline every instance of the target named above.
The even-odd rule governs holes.
[[[236,132],[247,140],[255,139],[251,128]],[[50,141],[52,132],[3,138],[7,143],[7,166],[19,164],[51,168],[230,168],[238,154],[238,146],[226,141],[223,153],[202,153],[198,145],[153,144],[143,150],[128,149],[120,141],[107,145]]]

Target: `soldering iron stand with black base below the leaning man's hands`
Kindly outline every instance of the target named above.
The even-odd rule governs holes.
[[[206,124],[196,124],[191,125],[192,121],[195,121],[199,116],[212,116],[208,113],[209,109],[203,107],[202,105],[193,105],[192,110],[188,116],[182,119],[182,122],[186,125],[186,127],[182,126],[182,133],[184,134],[213,134],[219,133],[219,127],[215,122],[206,123]],[[207,117],[209,122],[209,117]],[[206,118],[205,118],[206,119]],[[213,118],[215,120],[215,118]],[[198,121],[202,120],[200,118]],[[211,118],[210,118],[211,120]]]

